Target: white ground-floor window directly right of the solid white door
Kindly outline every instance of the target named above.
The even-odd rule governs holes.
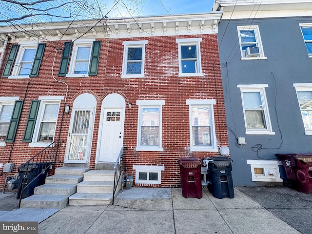
[[[164,100],[137,100],[139,106],[137,150],[162,151],[161,120]]]

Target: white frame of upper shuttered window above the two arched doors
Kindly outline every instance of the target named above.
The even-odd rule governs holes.
[[[68,70],[68,74],[66,74],[66,77],[72,77],[72,78],[89,77],[89,67],[90,67],[90,61],[91,61],[93,41],[95,41],[95,39],[75,40],[74,46],[73,46],[73,51],[72,51],[72,56],[70,59],[69,70]],[[76,61],[76,57],[77,57],[78,47],[81,47],[81,46],[90,46],[91,47],[90,48],[90,55],[89,55],[88,70],[87,70],[86,74],[74,74],[75,61]]]

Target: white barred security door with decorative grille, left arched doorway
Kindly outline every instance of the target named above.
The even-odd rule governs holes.
[[[87,163],[90,158],[94,108],[73,107],[66,144],[67,163]]]

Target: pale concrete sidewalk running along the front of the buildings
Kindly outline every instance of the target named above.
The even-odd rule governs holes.
[[[280,193],[279,188],[271,187],[270,189],[276,191],[275,196],[273,196],[276,198],[276,194]],[[303,194],[307,199],[305,209],[310,212],[307,219],[294,219],[292,221],[292,226],[296,228],[301,225],[300,222],[308,223],[307,229],[303,229],[302,232],[297,228],[300,230],[298,232],[281,220],[282,217],[278,218],[276,211],[271,211],[266,207],[273,204],[274,199],[268,198],[270,195],[274,195],[272,191],[256,188],[234,188],[234,198],[218,199],[213,197],[207,189],[203,189],[203,197],[197,199],[184,198],[181,188],[131,188],[117,194],[115,205],[67,206],[58,212],[53,211],[53,209],[17,209],[3,211],[6,214],[0,215],[0,221],[5,221],[3,217],[10,217],[12,219],[10,221],[16,221],[15,218],[20,219],[17,221],[30,221],[22,220],[22,217],[30,218],[40,214],[43,216],[38,220],[40,222],[39,234],[311,233],[309,220],[311,220],[312,214],[312,201],[310,202],[309,199],[312,199],[312,195],[305,196]],[[284,195],[293,193],[296,195],[298,193],[284,187],[282,187],[282,192]],[[266,198],[262,199],[262,197]],[[275,202],[280,203],[280,205],[285,203],[283,199],[279,198],[277,197]],[[289,202],[290,196],[288,198]],[[33,211],[29,211],[30,213],[27,215],[22,215],[21,213],[26,212],[25,210]],[[19,212],[19,214],[13,214],[14,212]],[[292,212],[293,209],[290,209],[289,213],[292,214]]]

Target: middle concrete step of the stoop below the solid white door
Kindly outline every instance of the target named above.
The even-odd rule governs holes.
[[[113,193],[114,182],[82,181],[77,185],[77,193],[106,194]]]

